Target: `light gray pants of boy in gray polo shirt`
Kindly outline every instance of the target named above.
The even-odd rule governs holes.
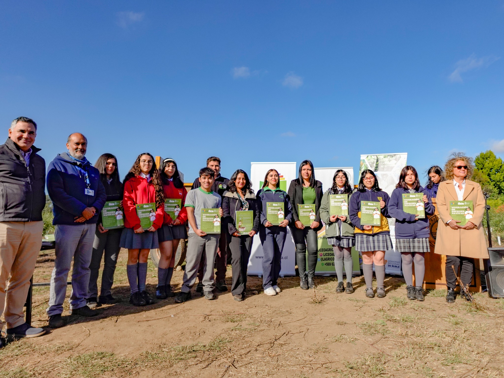
[[[203,267],[203,290],[212,291],[215,288],[214,261],[219,246],[220,234],[198,236],[190,233],[187,237],[187,253],[185,254],[184,283],[180,291],[188,293],[196,283],[201,256],[205,253]]]

